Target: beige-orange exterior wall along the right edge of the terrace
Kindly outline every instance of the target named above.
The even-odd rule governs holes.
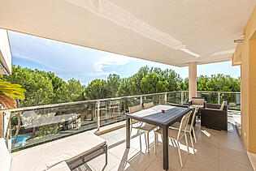
[[[256,6],[244,34],[245,41],[236,46],[232,63],[241,63],[241,136],[247,150],[256,152]]]

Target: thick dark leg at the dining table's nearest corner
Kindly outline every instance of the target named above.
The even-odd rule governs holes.
[[[163,169],[165,170],[169,169],[168,146],[169,146],[168,127],[163,126]]]

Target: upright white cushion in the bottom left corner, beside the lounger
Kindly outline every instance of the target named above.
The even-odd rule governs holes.
[[[0,169],[9,171],[11,168],[11,155],[8,152],[7,144],[3,138],[0,139]]]

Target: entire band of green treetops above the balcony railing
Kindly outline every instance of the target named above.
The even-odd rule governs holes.
[[[79,80],[64,81],[53,72],[12,66],[12,75],[3,75],[4,81],[20,84],[26,90],[20,106],[46,105],[77,100],[102,99],[115,96],[132,96],[155,92],[173,92],[189,89],[189,79],[182,79],[171,69],[141,67],[128,78],[111,74],[107,79],[93,79],[87,86]],[[200,75],[198,91],[240,92],[240,78],[229,75]]]

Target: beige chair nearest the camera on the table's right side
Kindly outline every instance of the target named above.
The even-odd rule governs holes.
[[[189,152],[189,143],[188,143],[187,135],[185,134],[184,130],[187,130],[187,126],[189,124],[189,118],[190,118],[191,113],[192,113],[192,111],[190,111],[189,113],[187,113],[183,116],[183,118],[181,119],[181,122],[180,122],[179,130],[171,129],[171,128],[168,129],[168,138],[171,139],[171,143],[172,143],[172,140],[177,142],[176,147],[178,149],[181,167],[183,167],[183,162],[182,162],[182,158],[181,158],[181,154],[180,154],[180,139],[184,136],[186,145],[188,147],[188,152]],[[157,135],[163,136],[162,128],[160,128],[154,132],[154,152],[155,153],[156,153],[156,144],[158,143]]]

